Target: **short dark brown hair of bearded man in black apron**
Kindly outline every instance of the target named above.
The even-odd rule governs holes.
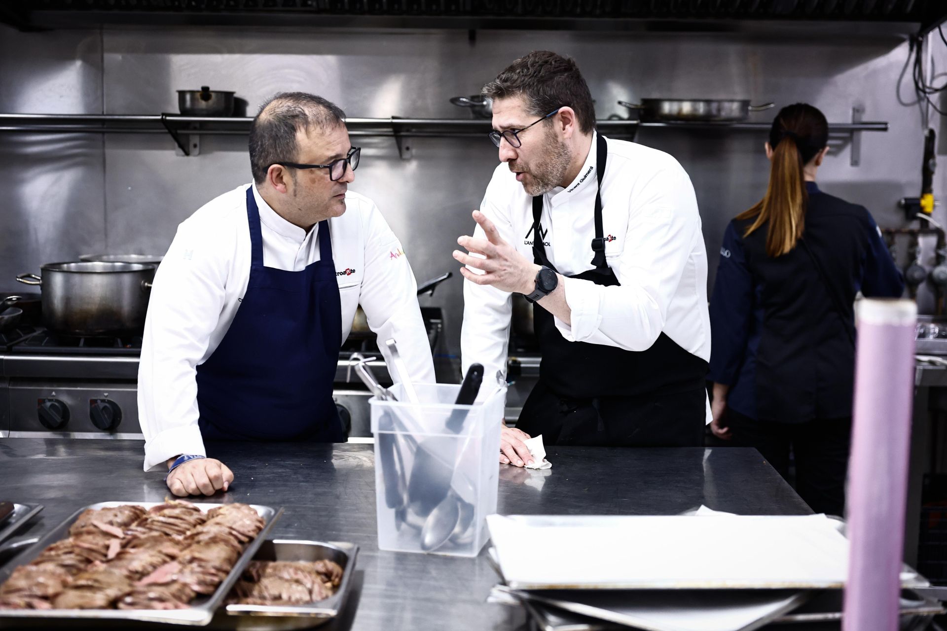
[[[491,99],[523,96],[528,112],[536,116],[568,106],[575,110],[582,133],[595,129],[595,105],[579,66],[548,50],[534,50],[513,61],[481,94]]]

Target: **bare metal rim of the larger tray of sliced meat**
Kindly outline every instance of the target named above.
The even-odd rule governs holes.
[[[67,517],[56,528],[43,536],[29,550],[26,552],[21,552],[12,562],[3,568],[0,568],[0,584],[9,578],[9,575],[17,566],[26,565],[39,556],[47,546],[68,536],[69,527],[75,523],[76,519],[86,509],[111,508],[114,506],[122,506],[126,504],[136,504],[145,509],[149,509],[152,508],[152,506],[157,506],[162,503],[164,502],[100,501],[96,504],[83,506],[71,516]],[[206,512],[211,508],[222,506],[223,504],[195,502],[194,505]],[[96,620],[137,620],[144,622],[167,622],[170,624],[191,624],[203,626],[210,622],[210,620],[213,618],[214,610],[223,603],[223,599],[226,597],[227,593],[229,593],[230,587],[233,587],[234,583],[237,582],[237,579],[240,578],[241,573],[246,568],[247,564],[250,563],[250,560],[253,558],[253,555],[257,552],[260,545],[262,545],[263,541],[266,540],[266,535],[269,534],[273,524],[283,512],[282,508],[275,509],[270,506],[260,506],[259,504],[250,504],[250,506],[257,511],[259,517],[263,518],[263,529],[259,531],[257,538],[248,543],[246,548],[243,549],[240,558],[237,559],[237,563],[234,564],[234,567],[230,570],[230,573],[227,574],[226,578],[223,579],[223,582],[217,587],[217,590],[209,596],[200,596],[196,598],[194,601],[192,601],[192,605],[187,609],[0,609],[0,619],[12,618],[55,620],[83,618]]]

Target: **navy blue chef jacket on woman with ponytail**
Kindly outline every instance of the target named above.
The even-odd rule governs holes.
[[[806,189],[803,239],[828,288],[802,243],[771,257],[765,225],[742,236],[754,219],[734,219],[724,233],[710,299],[708,378],[730,386],[729,409],[757,420],[803,423],[850,416],[855,358],[844,327],[854,335],[855,294],[898,297],[904,289],[902,273],[867,209],[824,193],[813,182]]]

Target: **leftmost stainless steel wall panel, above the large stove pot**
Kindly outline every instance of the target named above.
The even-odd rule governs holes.
[[[20,33],[0,26],[0,111],[101,112],[98,31]],[[0,135],[0,288],[43,263],[105,246],[102,139],[98,135]]]

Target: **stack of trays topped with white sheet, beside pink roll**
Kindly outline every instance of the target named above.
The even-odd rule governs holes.
[[[749,631],[840,616],[849,545],[843,522],[824,515],[705,509],[687,517],[493,515],[488,524],[501,577],[491,600],[526,605],[540,628]],[[902,587],[928,585],[902,572]],[[942,611],[920,597],[902,605]]]

